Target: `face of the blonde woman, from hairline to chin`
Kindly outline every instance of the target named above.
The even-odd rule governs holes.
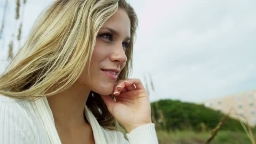
[[[91,58],[91,81],[88,79],[88,67],[79,77],[86,88],[101,95],[112,93],[117,76],[127,61],[125,47],[129,43],[130,29],[130,19],[122,8],[118,8],[101,27]]]

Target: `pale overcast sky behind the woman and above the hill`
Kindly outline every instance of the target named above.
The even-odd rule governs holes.
[[[27,0],[22,41],[51,2]],[[256,89],[256,0],[128,2],[139,18],[131,77],[145,85],[144,77],[152,76],[150,101],[199,102]],[[0,0],[1,21],[4,3]],[[0,40],[0,71],[8,63],[3,60],[11,34],[17,33],[14,8],[11,0]]]

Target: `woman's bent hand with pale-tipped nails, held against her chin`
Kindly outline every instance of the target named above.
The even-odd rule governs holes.
[[[128,133],[141,125],[152,123],[149,94],[139,79],[119,80],[113,94],[102,96],[109,112],[123,125]]]

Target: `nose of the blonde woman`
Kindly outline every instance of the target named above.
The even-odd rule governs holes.
[[[110,56],[110,60],[115,62],[118,61],[121,64],[127,61],[127,56],[125,54],[122,44],[118,44],[115,46],[115,48],[113,48],[113,53]]]

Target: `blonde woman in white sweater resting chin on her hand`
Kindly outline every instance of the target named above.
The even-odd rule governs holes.
[[[0,77],[1,144],[156,144],[125,0],[57,0]],[[120,125],[128,132],[128,141]]]

